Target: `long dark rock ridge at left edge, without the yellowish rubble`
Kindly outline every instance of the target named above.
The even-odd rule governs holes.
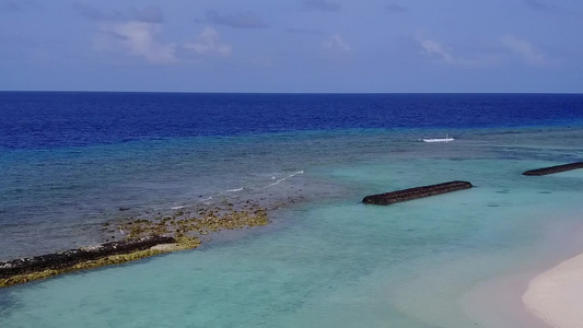
[[[110,255],[129,254],[148,249],[155,245],[173,243],[176,243],[173,237],[148,236],[138,239],[105,243],[94,247],[69,249],[55,254],[2,261],[0,262],[0,279],[48,269],[58,270]]]

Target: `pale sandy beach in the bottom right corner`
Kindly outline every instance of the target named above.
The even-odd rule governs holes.
[[[530,280],[523,302],[551,327],[583,327],[583,253]]]

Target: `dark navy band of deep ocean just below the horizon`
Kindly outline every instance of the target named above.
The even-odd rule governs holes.
[[[342,129],[581,125],[581,94],[0,93],[0,148]]]

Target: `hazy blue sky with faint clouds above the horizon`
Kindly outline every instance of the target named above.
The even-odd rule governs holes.
[[[581,0],[0,0],[0,91],[581,93]]]

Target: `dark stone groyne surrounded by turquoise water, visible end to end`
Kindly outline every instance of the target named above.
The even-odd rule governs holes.
[[[418,199],[422,197],[435,196],[446,192],[453,192],[463,189],[469,189],[473,185],[468,181],[450,181],[431,186],[422,186],[404,190],[390,191],[378,195],[370,195],[362,199],[363,203],[370,204],[392,204],[396,202]]]

